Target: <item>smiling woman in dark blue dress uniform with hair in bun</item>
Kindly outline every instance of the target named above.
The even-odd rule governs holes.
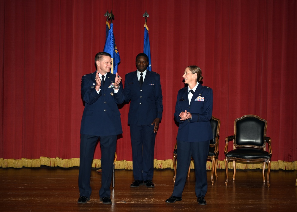
[[[202,86],[203,79],[198,66],[188,66],[183,78],[187,87],[177,94],[174,118],[179,123],[177,134],[177,168],[172,196],[166,202],[181,201],[187,179],[187,170],[194,159],[195,194],[200,205],[206,205],[207,192],[206,160],[209,141],[213,139],[210,119],[212,115],[212,89]]]

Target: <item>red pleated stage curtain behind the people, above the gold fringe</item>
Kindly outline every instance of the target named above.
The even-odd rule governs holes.
[[[273,161],[297,160],[296,0],[0,0],[0,158],[79,157],[81,76],[96,70],[107,10],[115,15],[123,80],[143,51],[142,15],[149,13],[152,69],[161,76],[164,105],[155,159],[172,158],[181,76],[198,65],[221,120],[219,160],[234,120],[247,114],[267,120]],[[120,106],[117,160],[132,160],[128,110]]]

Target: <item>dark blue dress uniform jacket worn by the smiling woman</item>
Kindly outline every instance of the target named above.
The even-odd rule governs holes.
[[[177,140],[199,142],[213,139],[210,119],[212,115],[212,89],[198,84],[189,104],[188,87],[181,88],[177,94],[174,118],[179,123]],[[181,121],[181,111],[190,112],[192,119]]]

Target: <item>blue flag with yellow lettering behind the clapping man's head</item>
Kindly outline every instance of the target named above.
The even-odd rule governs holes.
[[[106,34],[107,34],[107,37],[106,37],[103,51],[111,55],[111,61],[113,65],[111,66],[110,72],[112,74],[115,74],[116,72],[118,72],[118,64],[121,61],[121,58],[120,58],[118,48],[116,47],[116,42],[113,35],[113,23],[110,24],[110,29],[109,29],[109,23],[106,22]]]

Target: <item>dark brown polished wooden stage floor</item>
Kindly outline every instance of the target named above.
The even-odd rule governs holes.
[[[0,168],[0,211],[297,211],[297,170],[271,170],[270,188],[262,182],[261,170],[217,170],[218,179],[211,185],[208,175],[207,205],[198,205],[191,170],[182,201],[166,203],[173,191],[172,169],[155,169],[155,188],[131,188],[132,170],[115,171],[112,204],[99,201],[101,174],[92,169],[91,200],[78,204],[78,167]],[[266,175],[266,172],[265,172]],[[111,186],[112,189],[112,186]]]

